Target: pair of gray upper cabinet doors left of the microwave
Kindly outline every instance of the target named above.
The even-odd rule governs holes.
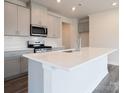
[[[5,35],[30,35],[30,10],[5,2]]]

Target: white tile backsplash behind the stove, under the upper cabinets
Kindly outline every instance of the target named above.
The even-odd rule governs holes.
[[[27,49],[28,40],[42,41],[42,42],[45,42],[45,45],[52,46],[52,47],[62,46],[62,40],[59,38],[5,36],[4,51],[25,50]]]

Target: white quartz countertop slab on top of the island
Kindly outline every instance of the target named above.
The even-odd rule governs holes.
[[[81,48],[80,51],[74,51],[74,49],[70,50],[73,50],[73,52],[64,52],[68,50],[60,50],[46,53],[24,54],[23,56],[54,68],[72,70],[80,65],[116,51],[116,49],[93,47]]]

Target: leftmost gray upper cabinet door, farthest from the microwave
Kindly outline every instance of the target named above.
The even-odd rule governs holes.
[[[17,33],[17,6],[5,2],[5,35]]]

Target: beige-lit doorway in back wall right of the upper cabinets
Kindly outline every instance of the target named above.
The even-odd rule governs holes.
[[[62,45],[65,49],[71,48],[71,24],[62,23]]]

